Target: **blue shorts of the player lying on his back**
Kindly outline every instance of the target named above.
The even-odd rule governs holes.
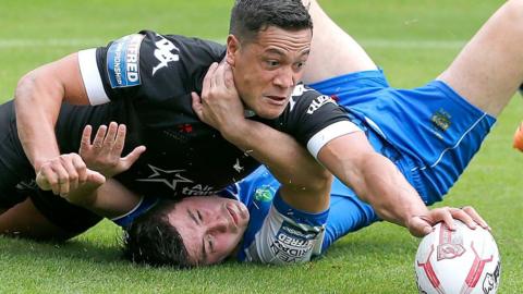
[[[496,122],[441,81],[397,89],[381,71],[365,71],[311,87],[349,111],[427,205],[447,194]]]

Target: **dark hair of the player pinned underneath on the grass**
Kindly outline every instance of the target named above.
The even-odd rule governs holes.
[[[161,201],[136,218],[123,236],[124,258],[149,266],[194,266],[177,228],[171,225],[168,212],[178,201]]]

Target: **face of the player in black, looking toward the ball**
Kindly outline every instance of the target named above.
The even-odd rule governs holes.
[[[241,44],[228,39],[228,62],[246,108],[262,118],[278,118],[302,78],[311,51],[312,30],[269,26],[255,39]]]

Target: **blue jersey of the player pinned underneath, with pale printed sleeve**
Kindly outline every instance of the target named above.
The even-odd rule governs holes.
[[[377,220],[370,206],[338,180],[332,184],[330,208],[319,213],[289,206],[278,193],[279,186],[262,167],[227,189],[251,213],[239,260],[278,265],[308,261],[336,240]]]

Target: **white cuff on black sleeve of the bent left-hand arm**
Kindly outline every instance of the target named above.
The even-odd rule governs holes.
[[[110,99],[104,89],[100,72],[98,71],[96,48],[78,51],[78,64],[90,105],[96,106],[109,102]]]

